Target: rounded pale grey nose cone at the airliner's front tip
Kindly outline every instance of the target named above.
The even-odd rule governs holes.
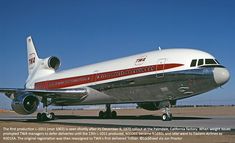
[[[230,78],[229,71],[226,68],[215,68],[213,74],[215,82],[220,86],[225,84]]]

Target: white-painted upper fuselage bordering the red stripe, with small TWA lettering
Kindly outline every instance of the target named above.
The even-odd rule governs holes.
[[[190,63],[192,59],[215,59],[212,55],[198,51],[198,50],[191,50],[191,49],[169,49],[169,50],[161,50],[161,51],[151,51],[146,52],[134,56],[128,56],[120,59],[105,61],[97,64],[87,65],[79,68],[74,68],[70,70],[64,70],[60,71],[48,76],[45,76],[41,79],[37,79],[32,83],[33,88],[35,83],[37,85],[38,82],[48,82],[52,80],[65,80],[66,78],[73,78],[73,77],[79,77],[79,76],[86,76],[86,75],[93,75],[93,74],[100,74],[100,73],[106,73],[106,72],[113,72],[118,70],[124,70],[124,69],[131,69],[131,68],[137,68],[137,67],[144,67],[144,66],[151,66],[158,64],[161,64],[159,62],[164,62],[164,64],[182,64],[182,66],[178,66],[175,68],[165,69],[161,71],[152,71],[147,73],[140,73],[140,74],[132,74],[128,76],[122,76],[118,78],[111,78],[107,80],[102,81],[91,81],[88,83],[80,83],[75,84],[73,86],[64,86],[61,87],[44,87],[47,89],[58,89],[58,88],[78,88],[83,86],[91,86],[96,84],[102,84],[106,82],[113,82],[118,80],[124,80],[128,78],[134,78],[134,77],[140,77],[145,76],[149,74],[156,74],[156,73],[162,73],[162,72],[172,72],[172,71],[180,71],[180,70],[186,70],[191,69]],[[139,59],[144,59],[144,61],[138,61]],[[195,68],[195,67],[193,67]]]

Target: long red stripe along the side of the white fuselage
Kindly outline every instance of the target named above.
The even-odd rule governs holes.
[[[97,81],[109,80],[119,77],[125,77],[135,74],[148,73],[153,71],[167,70],[175,67],[182,66],[183,64],[161,64],[161,65],[150,65],[144,67],[123,69],[117,71],[103,72],[97,74],[89,74],[84,76],[76,76],[69,78],[62,78],[56,80],[48,80],[35,83],[35,89],[58,89],[65,88],[75,85],[87,84]]]

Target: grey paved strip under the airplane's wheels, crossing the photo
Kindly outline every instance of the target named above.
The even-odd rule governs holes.
[[[1,115],[0,121],[39,123],[35,116]],[[235,116],[175,116],[172,121],[162,121],[160,116],[119,116],[116,119],[99,119],[96,116],[57,115],[47,124],[94,127],[193,127],[229,128],[235,131]]]

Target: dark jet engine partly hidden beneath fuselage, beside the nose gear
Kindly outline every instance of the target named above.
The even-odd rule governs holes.
[[[137,105],[145,110],[155,111],[167,107],[169,105],[176,105],[176,100],[160,101],[160,102],[143,102],[143,103],[137,103]]]

